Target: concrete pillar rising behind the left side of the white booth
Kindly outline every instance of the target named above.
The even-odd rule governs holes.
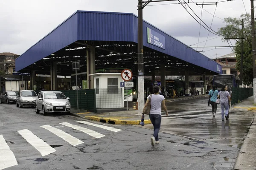
[[[94,88],[94,79],[93,76],[89,76],[89,74],[95,74],[95,47],[89,46],[87,47],[87,88]]]

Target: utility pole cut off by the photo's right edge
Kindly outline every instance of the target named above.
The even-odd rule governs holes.
[[[254,5],[251,1],[251,24],[252,24],[252,54],[253,54],[253,99],[256,104],[256,44],[255,44],[255,25],[254,25]]]

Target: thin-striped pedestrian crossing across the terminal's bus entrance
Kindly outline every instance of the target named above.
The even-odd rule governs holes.
[[[221,111],[217,111],[216,114],[221,114]],[[168,116],[165,112],[162,112],[162,117],[169,119],[189,119],[197,118],[201,116],[212,116],[211,110],[172,110],[168,111]]]

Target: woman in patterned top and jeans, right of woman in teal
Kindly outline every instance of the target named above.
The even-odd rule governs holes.
[[[226,118],[226,120],[228,120],[227,114],[228,114],[228,104],[230,102],[230,95],[227,91],[226,85],[222,86],[221,91],[219,92],[218,98],[220,99],[220,104],[221,104],[222,121],[224,121],[224,109],[226,110],[225,118]]]

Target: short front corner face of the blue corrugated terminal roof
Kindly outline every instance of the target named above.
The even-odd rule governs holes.
[[[132,14],[79,11],[79,40],[132,41]]]

